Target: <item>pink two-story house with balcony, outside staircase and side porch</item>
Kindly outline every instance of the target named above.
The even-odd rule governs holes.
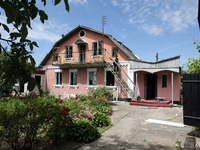
[[[112,66],[116,55],[118,74]],[[180,100],[179,56],[145,62],[111,35],[81,25],[53,45],[38,72],[43,90],[63,97],[105,85],[114,98]]]

